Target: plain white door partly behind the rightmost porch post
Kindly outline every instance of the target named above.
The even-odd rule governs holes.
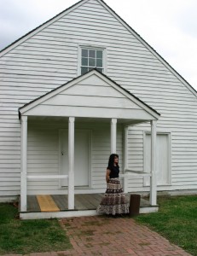
[[[150,172],[151,168],[151,135],[145,135],[144,172]],[[157,185],[169,185],[171,183],[170,166],[170,135],[167,133],[157,134],[156,154],[156,178]],[[144,178],[144,185],[149,186],[150,179]]]

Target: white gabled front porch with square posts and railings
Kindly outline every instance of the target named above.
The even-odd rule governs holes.
[[[79,88],[83,95],[78,95]],[[121,155],[119,163],[125,193],[131,191],[128,178],[148,175],[150,205],[156,206],[156,124],[159,113],[119,84],[93,70],[27,103],[19,109],[19,117],[21,218],[23,212],[28,212],[28,195],[67,195],[68,210],[63,207],[64,211],[45,212],[45,215],[39,212],[40,218],[96,214],[96,207],[83,211],[76,207],[75,195],[80,194],[82,187],[86,191],[81,194],[104,191],[107,156],[112,153]],[[128,127],[144,122],[149,122],[151,129],[149,173],[130,170],[127,155]]]

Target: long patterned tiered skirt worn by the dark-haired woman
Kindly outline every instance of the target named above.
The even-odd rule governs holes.
[[[107,183],[107,190],[101,199],[98,213],[105,214],[125,214],[129,212],[129,202],[125,197],[119,178],[110,178]]]

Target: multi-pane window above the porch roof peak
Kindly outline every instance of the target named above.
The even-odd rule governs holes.
[[[81,49],[81,74],[89,72],[93,68],[103,73],[103,49]]]

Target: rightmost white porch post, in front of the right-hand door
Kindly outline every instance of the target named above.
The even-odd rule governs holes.
[[[150,205],[157,204],[157,184],[156,184],[156,138],[157,138],[157,121],[151,121],[151,177],[150,177]]]

